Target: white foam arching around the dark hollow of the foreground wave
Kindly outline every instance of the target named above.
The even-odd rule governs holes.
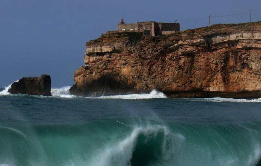
[[[184,136],[176,136],[170,133],[169,129],[163,125],[151,125],[147,124],[145,127],[136,126],[133,128],[130,135],[128,135],[122,141],[117,142],[116,144],[111,144],[105,149],[100,149],[100,154],[96,155],[98,158],[93,157],[91,163],[88,165],[91,166],[111,166],[111,165],[130,165],[130,160],[132,158],[133,150],[137,144],[137,139],[140,134],[146,135],[148,138],[150,136],[156,136],[159,132],[164,132],[164,140],[162,143],[162,153],[170,154],[173,152],[173,149],[166,148],[167,144],[174,144],[175,141],[184,143]],[[179,134],[180,135],[180,134]],[[102,158],[100,156],[103,156]],[[165,156],[169,159],[169,156]]]

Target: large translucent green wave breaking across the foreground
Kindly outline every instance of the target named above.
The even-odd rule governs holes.
[[[122,118],[0,131],[0,162],[8,165],[255,166],[261,157],[260,124],[253,122]]]

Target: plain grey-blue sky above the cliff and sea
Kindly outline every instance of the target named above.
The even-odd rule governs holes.
[[[125,23],[180,23],[181,30],[261,21],[260,0],[0,0],[0,88],[22,77],[51,76],[72,86],[85,43]]]

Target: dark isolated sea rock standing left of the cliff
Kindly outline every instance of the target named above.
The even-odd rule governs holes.
[[[8,92],[11,94],[52,96],[51,77],[46,74],[41,77],[23,77],[18,82],[12,83]]]

